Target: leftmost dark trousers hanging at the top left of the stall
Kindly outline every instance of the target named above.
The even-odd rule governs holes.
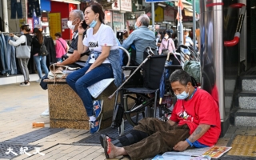
[[[18,19],[22,19],[22,0],[11,0],[10,1],[10,18],[16,19],[16,13]],[[32,14],[33,15],[33,14]]]

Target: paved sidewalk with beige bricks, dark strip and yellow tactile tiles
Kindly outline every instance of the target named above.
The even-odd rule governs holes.
[[[38,82],[30,82],[30,86],[19,86],[18,83],[0,86],[0,159],[10,159],[10,155],[14,159],[31,160],[106,159],[102,146],[77,143],[91,135],[89,130],[51,129],[49,118],[40,117],[47,107],[47,90],[42,90]],[[33,122],[45,122],[45,127],[33,129]],[[236,137],[236,135],[241,136]],[[229,156],[235,155],[237,157],[233,159],[256,159],[255,135],[256,127],[230,126],[225,137],[218,140],[217,146],[232,146],[234,150],[230,150],[222,158],[229,159]],[[233,140],[236,142],[234,145],[232,145]],[[23,148],[30,149],[27,152],[31,154],[30,156],[24,152],[25,149],[20,150],[21,143]],[[6,144],[16,145],[18,155],[6,154],[9,148],[5,146]],[[40,154],[34,150],[34,147],[39,148]]]

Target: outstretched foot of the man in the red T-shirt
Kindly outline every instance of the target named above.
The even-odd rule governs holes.
[[[126,150],[123,147],[114,146],[112,142],[110,142],[109,137],[106,137],[107,142],[107,154],[110,158],[115,158],[120,155],[127,155]]]

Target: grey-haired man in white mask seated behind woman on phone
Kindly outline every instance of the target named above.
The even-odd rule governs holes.
[[[87,55],[78,53],[78,26],[80,22],[84,19],[84,14],[82,10],[72,10],[70,11],[70,18],[67,22],[70,30],[73,30],[73,36],[70,44],[70,49],[67,52],[67,57],[65,61],[58,62],[60,65],[67,65],[70,67],[83,67],[86,64],[88,58]],[[83,38],[86,35],[86,31],[83,33]]]

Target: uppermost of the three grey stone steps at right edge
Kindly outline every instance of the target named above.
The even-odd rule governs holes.
[[[246,75],[242,77],[242,90],[256,91],[255,75]]]

